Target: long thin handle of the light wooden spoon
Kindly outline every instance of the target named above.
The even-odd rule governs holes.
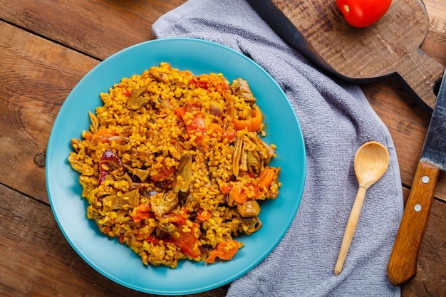
[[[361,213],[361,209],[363,208],[365,191],[367,191],[365,187],[359,187],[358,194],[356,194],[355,202],[353,202],[350,217],[348,217],[346,231],[344,232],[344,237],[342,239],[341,249],[339,250],[338,261],[336,262],[335,266],[336,276],[341,273],[344,261],[346,261],[348,248],[350,247],[351,239],[353,238],[356,225],[358,224],[359,214]]]

